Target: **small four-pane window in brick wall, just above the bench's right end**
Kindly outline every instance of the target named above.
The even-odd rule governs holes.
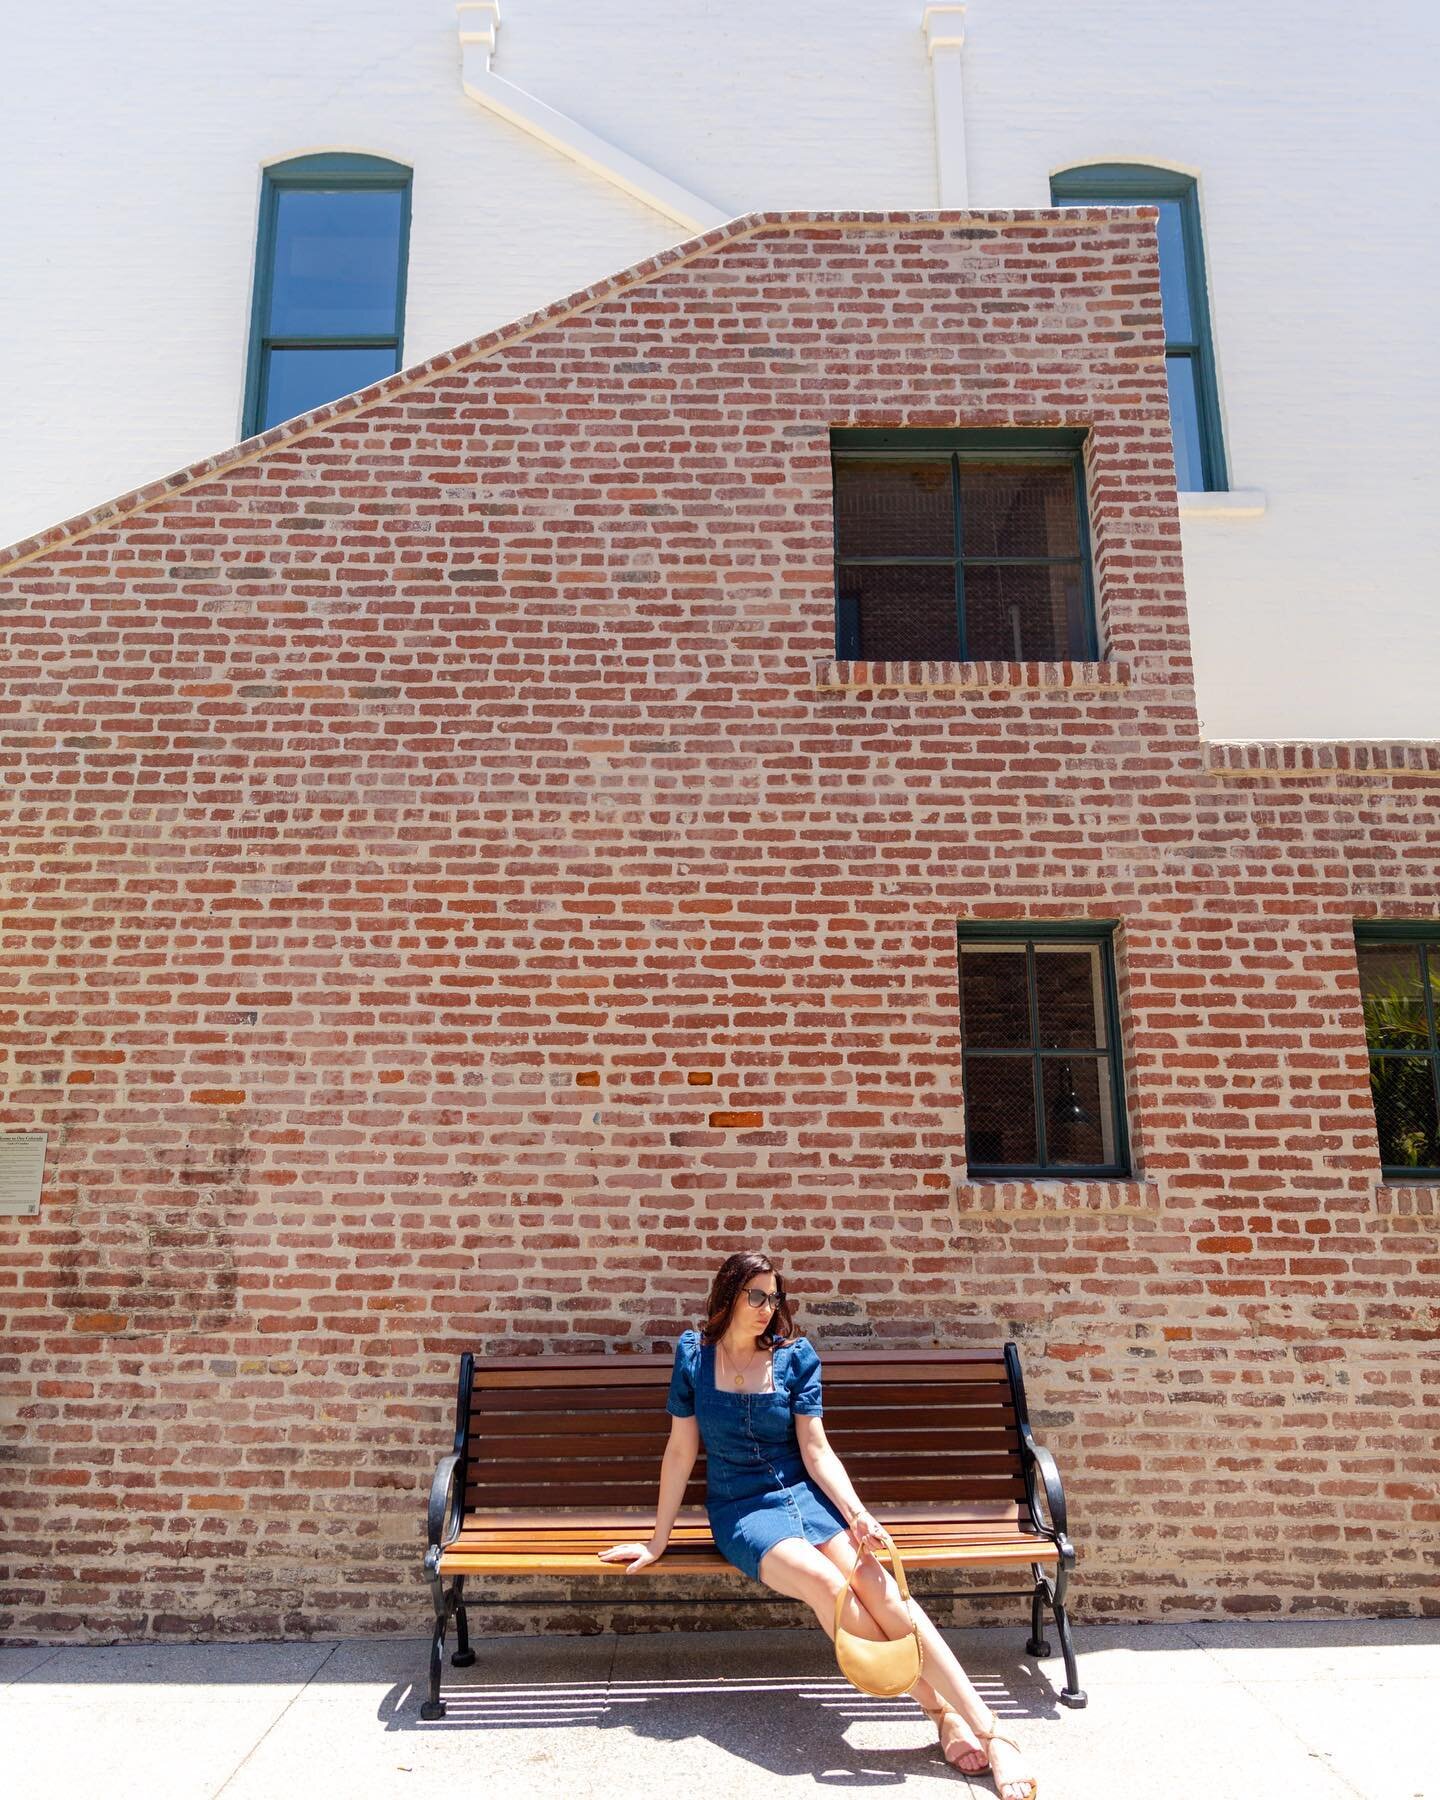
[[[1111,936],[959,927],[970,1174],[1129,1174]]]

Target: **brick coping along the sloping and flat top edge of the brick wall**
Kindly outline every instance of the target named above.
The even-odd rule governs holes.
[[[1148,207],[1066,207],[1064,216],[1071,220],[1076,216],[1111,218],[1118,214],[1134,218],[1136,214],[1148,216],[1150,212],[1152,209]],[[686,238],[684,243],[677,243],[670,250],[659,250],[655,256],[648,256],[643,263],[634,263],[630,268],[623,268],[616,275],[605,275],[603,281],[596,281],[589,288],[567,293],[563,301],[553,301],[549,306],[542,306],[535,313],[524,313],[509,324],[497,326],[495,331],[486,331],[484,337],[472,338],[468,344],[448,349],[439,356],[430,356],[428,362],[418,362],[409,369],[398,369],[394,374],[387,374],[383,382],[373,382],[369,387],[362,387],[355,394],[346,394],[342,400],[331,400],[329,405],[315,407],[313,412],[302,412],[299,418],[286,419],[283,425],[274,425],[268,432],[259,432],[256,437],[245,437],[229,450],[221,450],[220,455],[202,457],[198,463],[191,463],[187,468],[180,468],[173,475],[162,475],[158,481],[148,481],[144,486],[131,488],[130,493],[122,493],[115,500],[94,506],[88,513],[76,513],[74,518],[50,526],[49,531],[20,538],[18,544],[0,549],[0,574],[20,563],[32,562],[36,556],[45,556],[47,551],[56,551],[65,544],[74,544],[76,538],[83,538],[88,531],[97,531],[101,526],[113,526],[121,518],[140,513],[148,506],[155,506],[157,500],[169,499],[173,493],[184,493],[187,488],[194,488],[202,481],[209,481],[212,475],[223,475],[227,470],[241,468],[245,463],[254,463],[268,450],[277,450],[281,445],[293,445],[297,439],[308,437],[311,432],[324,430],[337,419],[349,419],[355,414],[364,412],[367,407],[392,400],[396,394],[403,394],[410,387],[419,387],[432,376],[443,374],[446,369],[459,369],[464,364],[479,362],[482,356],[491,356],[497,349],[508,349],[511,344],[518,344],[535,331],[544,331],[545,326],[558,324],[562,319],[569,319],[572,313],[580,313],[587,306],[596,306],[599,301],[608,301],[616,293],[625,293],[628,288],[641,286],[664,270],[675,268],[680,263],[689,263],[697,256],[707,256],[711,250],[740,243],[740,239],[751,238],[754,232],[801,230],[810,225],[842,225],[850,230],[886,229],[891,225],[1024,225],[1055,223],[1058,216],[1060,214],[1053,209],[1040,207],[1019,207],[1006,209],[1003,212],[958,212],[940,209],[927,212],[745,212],[742,218],[731,220],[727,225],[718,225],[715,230],[704,232],[700,238]]]

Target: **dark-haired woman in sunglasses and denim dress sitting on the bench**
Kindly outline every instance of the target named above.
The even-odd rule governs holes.
[[[727,1256],[709,1291],[706,1323],[675,1346],[666,1411],[670,1444],[661,1463],[655,1534],[646,1544],[601,1550],[634,1575],[664,1555],[700,1438],[706,1442],[706,1512],[720,1553],[752,1580],[805,1600],[828,1634],[835,1602],[860,1562],[842,1625],[860,1638],[909,1633],[900,1589],[868,1553],[889,1534],[860,1505],[821,1424],[821,1359],[794,1337],[785,1285],[756,1253]],[[999,1730],[954,1652],[923,1609],[911,1615],[925,1649],[925,1674],[909,1690],[940,1728],[945,1759],[965,1775],[986,1768],[1001,1800],[1035,1800],[1019,1744]]]

